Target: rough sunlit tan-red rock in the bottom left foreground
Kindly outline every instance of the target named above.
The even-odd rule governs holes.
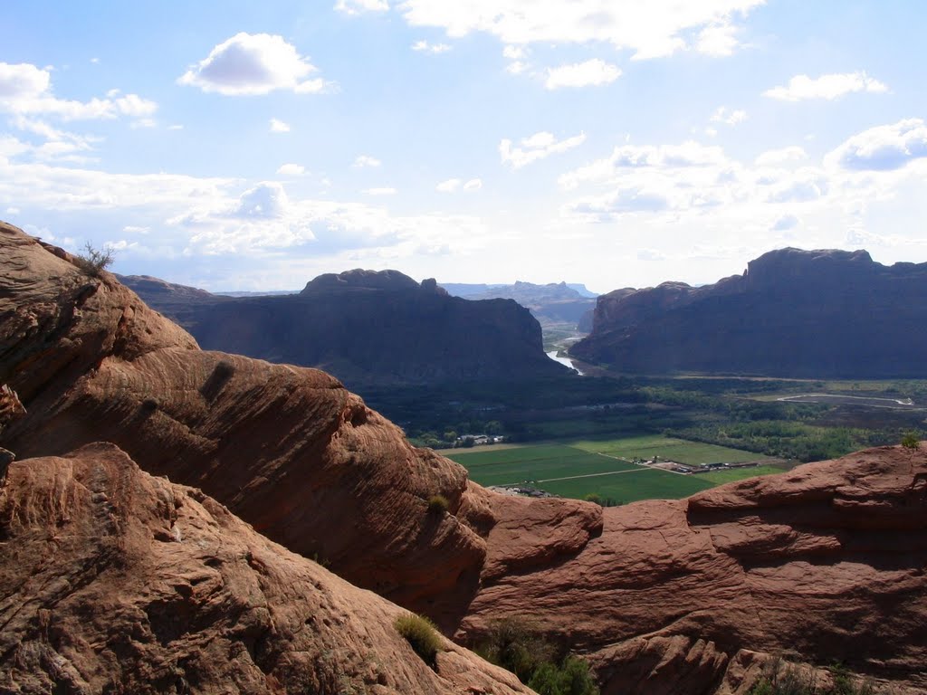
[[[261,537],[198,489],[95,444],[0,487],[5,693],[530,693],[405,613]]]

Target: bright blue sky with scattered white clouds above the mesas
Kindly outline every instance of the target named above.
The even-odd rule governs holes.
[[[920,0],[6,0],[0,219],[213,291],[927,261]]]

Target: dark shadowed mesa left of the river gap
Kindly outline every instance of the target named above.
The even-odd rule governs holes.
[[[222,297],[123,278],[205,349],[324,369],[352,386],[565,373],[544,355],[540,325],[514,301],[451,297],[434,280],[355,270],[312,280],[298,295]]]

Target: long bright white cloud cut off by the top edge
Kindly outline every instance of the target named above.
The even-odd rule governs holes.
[[[635,59],[669,56],[687,46],[727,55],[737,45],[732,23],[765,0],[406,0],[400,11],[413,26],[450,36],[487,32],[505,44],[603,42],[634,51]],[[695,34],[693,36],[693,33]],[[694,42],[694,44],[693,44]]]

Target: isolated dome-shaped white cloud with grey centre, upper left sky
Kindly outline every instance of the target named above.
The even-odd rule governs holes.
[[[282,36],[239,32],[215,46],[177,82],[221,95],[266,95],[274,90],[310,94],[330,86],[321,78],[307,79],[317,71]]]

